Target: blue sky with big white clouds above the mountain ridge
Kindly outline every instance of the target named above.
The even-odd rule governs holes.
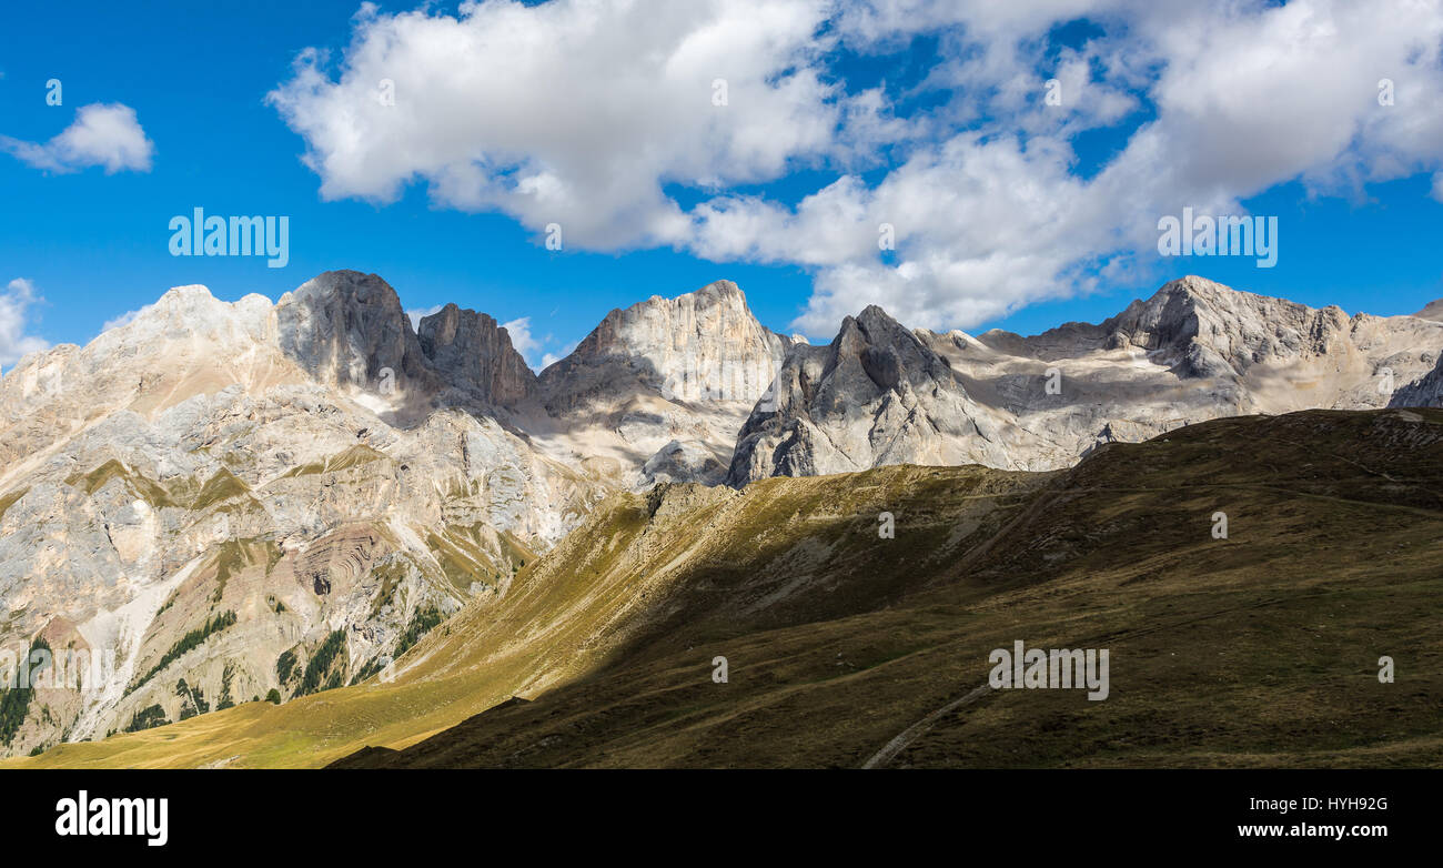
[[[1437,10],[639,6],[7,10],[0,365],[172,285],[276,298],[329,268],[381,274],[408,309],[525,317],[534,365],[612,307],[717,278],[814,340],[873,301],[911,326],[1033,333],[1182,274],[1349,313],[1443,297]],[[306,49],[329,55],[297,66]],[[358,108],[381,78],[397,105]],[[45,150],[94,104],[134,112],[147,159]],[[1160,257],[1157,219],[1185,205],[1277,216],[1277,265]],[[198,206],[287,215],[289,264],[172,257],[167,222]]]

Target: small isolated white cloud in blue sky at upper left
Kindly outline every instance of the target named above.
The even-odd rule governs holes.
[[[45,144],[0,136],[0,149],[38,169],[79,172],[104,166],[115,172],[150,172],[156,146],[128,105],[94,102],[75,112],[75,123]]]

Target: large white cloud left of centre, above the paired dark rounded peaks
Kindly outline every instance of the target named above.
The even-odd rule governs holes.
[[[306,50],[270,94],[322,196],[395,200],[421,180],[564,244],[670,244],[662,186],[763,182],[831,146],[827,0],[504,0],[460,16],[362,9],[339,78]],[[726,79],[726,105],[713,82]],[[381,82],[394,82],[384,105]]]

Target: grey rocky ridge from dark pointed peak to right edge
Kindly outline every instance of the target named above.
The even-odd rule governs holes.
[[[1349,317],[1186,277],[1098,324],[1032,337],[906,332],[880,309],[784,365],[727,471],[766,476],[975,461],[1052,470],[1102,443],[1222,415],[1436,401],[1443,323]],[[1405,386],[1394,398],[1395,384]]]

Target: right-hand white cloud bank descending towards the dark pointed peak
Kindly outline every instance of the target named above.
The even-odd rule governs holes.
[[[1039,40],[1075,4],[1030,19],[1001,6],[954,6],[965,23],[954,39],[986,42],[932,75],[961,94],[941,115],[973,128],[916,147],[874,186],[843,177],[795,208],[719,196],[691,215],[693,249],[811,265],[814,296],[795,326],[814,336],[869,303],[909,324],[970,327],[1088,291],[1089,265],[1127,274],[1152,258],[1157,218],[1183,206],[1240,213],[1241,199],[1294,179],[1351,195],[1443,164],[1443,112],[1427,102],[1443,91],[1436,6],[1098,4],[1110,35],[1062,50],[1051,71],[1065,111],[1042,102]],[[1384,76],[1395,84],[1391,107],[1377,99]],[[1071,137],[1115,123],[1134,91],[1154,120],[1095,177],[1079,177]],[[882,222],[896,228],[893,261],[877,254]]]

